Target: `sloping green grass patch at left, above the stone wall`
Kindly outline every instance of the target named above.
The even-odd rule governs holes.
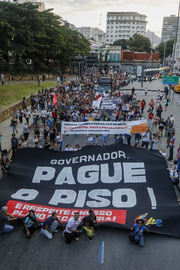
[[[21,83],[11,85],[0,85],[0,110],[22,101],[23,97],[30,97],[31,93],[37,94],[39,89],[50,88],[57,82],[41,82],[41,87],[35,83]]]

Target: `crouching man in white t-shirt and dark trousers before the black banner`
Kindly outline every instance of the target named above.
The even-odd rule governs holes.
[[[79,240],[79,236],[81,236],[81,232],[77,230],[77,227],[81,223],[81,220],[79,219],[79,213],[76,212],[74,217],[71,217],[68,222],[66,229],[63,232],[63,235],[66,239],[66,244],[70,244],[71,238],[74,237],[76,240]]]

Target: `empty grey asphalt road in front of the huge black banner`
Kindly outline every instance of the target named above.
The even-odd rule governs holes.
[[[179,269],[179,238],[144,233],[144,247],[129,242],[129,231],[98,227],[93,242],[82,232],[79,240],[65,243],[58,228],[49,240],[40,229],[27,239],[20,220],[11,222],[12,232],[0,236],[1,270],[97,269],[97,270],[169,270]],[[133,224],[132,224],[133,225]],[[104,242],[104,261],[100,252]]]

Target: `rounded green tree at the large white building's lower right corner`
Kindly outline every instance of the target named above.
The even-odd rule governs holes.
[[[133,37],[129,38],[128,46],[131,51],[151,52],[151,42],[149,38],[139,34],[134,34]]]

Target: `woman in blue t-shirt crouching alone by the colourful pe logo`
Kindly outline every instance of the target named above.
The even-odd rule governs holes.
[[[146,227],[144,226],[144,220],[137,219],[133,228],[131,228],[131,231],[133,230],[135,235],[135,244],[137,243],[137,241],[139,241],[140,247],[143,247],[144,246],[143,231],[149,232],[149,230],[146,229]]]

